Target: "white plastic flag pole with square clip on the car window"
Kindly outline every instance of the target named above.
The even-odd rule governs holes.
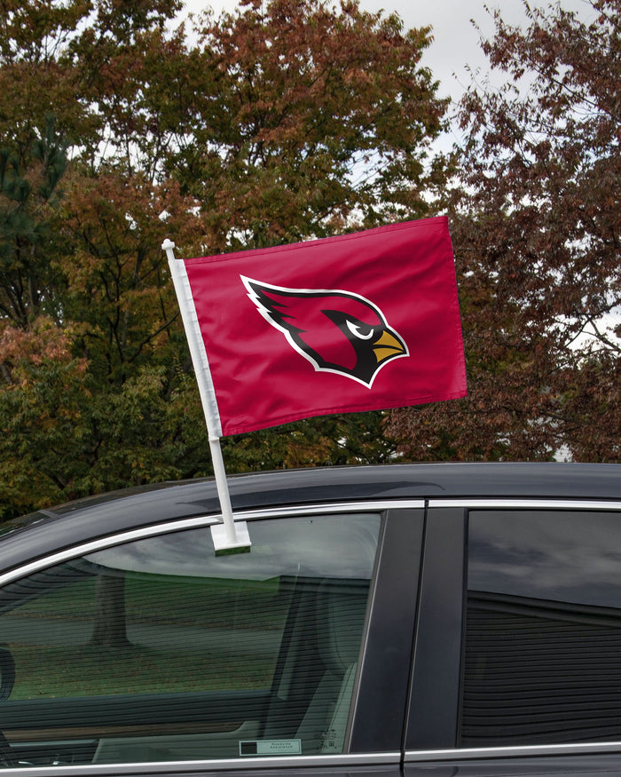
[[[199,317],[196,313],[185,263],[181,259],[175,258],[174,248],[175,243],[168,239],[161,244],[161,249],[166,251],[166,256],[169,260],[170,274],[175,285],[181,318],[184,322],[185,336],[190,346],[190,355],[194,365],[196,381],[199,385],[200,401],[202,402],[205,421],[207,422],[211,461],[214,465],[216,488],[223,520],[222,526],[212,527],[211,534],[214,540],[214,547],[216,548],[216,555],[227,552],[249,551],[250,537],[248,535],[248,527],[246,527],[245,523],[238,523],[236,525],[233,520],[231,497],[229,496],[229,486],[224,470],[222,448],[220,447],[222,427],[220,425],[216,392],[211,379],[205,343],[200,334]]]

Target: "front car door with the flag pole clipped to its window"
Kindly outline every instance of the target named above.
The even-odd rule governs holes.
[[[386,508],[248,511],[230,556],[209,516],[128,527],[3,575],[4,766],[398,771],[422,509]]]

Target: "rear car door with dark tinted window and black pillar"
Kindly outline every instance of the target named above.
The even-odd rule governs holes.
[[[621,774],[621,504],[429,503],[405,773]]]

